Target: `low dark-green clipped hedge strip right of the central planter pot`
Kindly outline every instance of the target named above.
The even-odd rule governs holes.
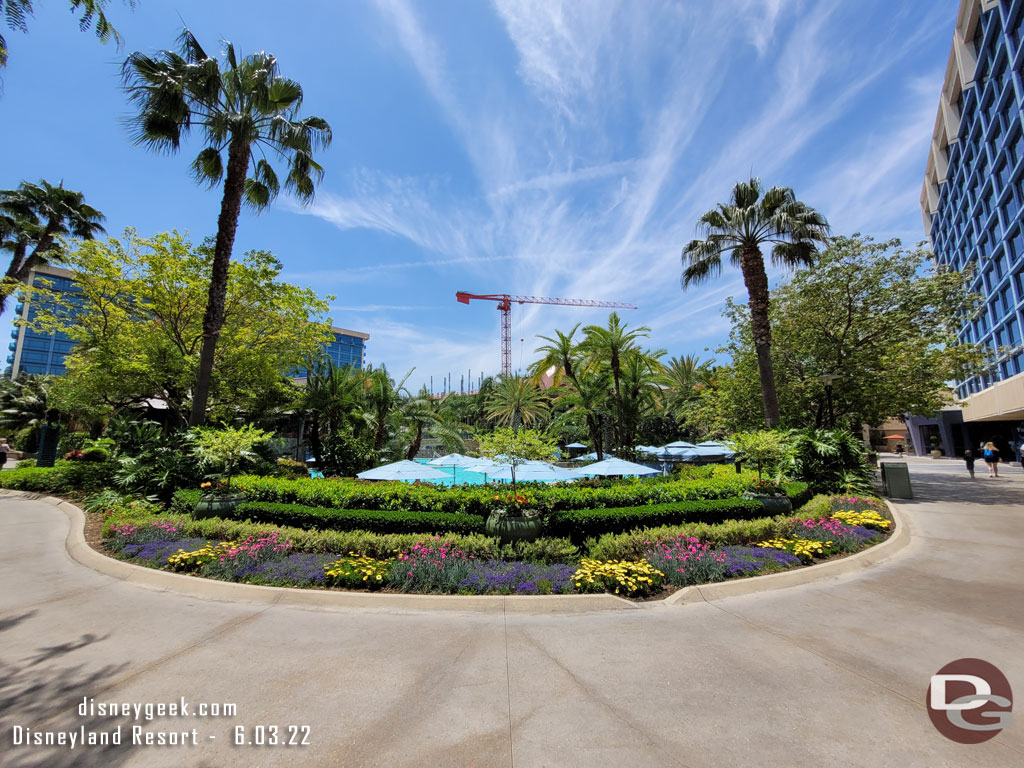
[[[548,518],[548,529],[554,536],[566,536],[579,543],[603,534],[618,534],[655,525],[721,522],[755,517],[764,517],[764,507],[755,499],[711,499],[646,507],[556,512]]]

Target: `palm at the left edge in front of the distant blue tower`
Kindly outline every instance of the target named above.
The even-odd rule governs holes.
[[[59,252],[57,238],[92,240],[103,231],[103,214],[86,205],[82,193],[48,181],[23,181],[16,189],[0,190],[0,248],[10,263],[0,285],[0,315],[10,296],[29,273]],[[31,249],[31,250],[30,250]]]

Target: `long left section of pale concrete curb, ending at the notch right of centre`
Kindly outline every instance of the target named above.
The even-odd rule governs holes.
[[[400,595],[372,592],[335,592],[295,587],[263,587],[218,582],[134,565],[97,552],[85,541],[85,513],[74,504],[52,496],[26,490],[0,489],[3,496],[45,502],[62,511],[71,522],[65,547],[73,560],[121,582],[204,600],[291,605],[304,608],[358,608],[360,610],[449,610],[473,613],[589,613],[639,610],[640,605],[614,595]]]

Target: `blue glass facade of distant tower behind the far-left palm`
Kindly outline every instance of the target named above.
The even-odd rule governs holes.
[[[75,294],[79,293],[80,289],[75,285],[75,281],[60,274],[59,272],[63,272],[62,269],[52,271],[54,273],[34,274],[33,285],[46,290],[35,292],[29,302],[23,300],[17,303],[14,311],[20,319],[32,323],[41,307],[52,306],[54,298],[49,292],[70,293],[72,294],[70,306],[74,307],[77,303]],[[10,336],[13,341],[7,347],[10,353],[7,355],[5,375],[26,373],[59,376],[67,370],[65,358],[75,342],[66,334],[44,334],[23,326],[11,331]]]

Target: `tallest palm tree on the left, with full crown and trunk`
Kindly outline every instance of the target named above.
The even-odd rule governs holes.
[[[201,128],[206,146],[191,164],[193,174],[210,186],[223,180],[203,346],[188,419],[198,426],[206,420],[214,350],[224,324],[227,265],[242,204],[260,211],[281,188],[265,151],[288,162],[285,187],[300,201],[309,202],[313,178],[318,181],[324,175],[313,160],[313,150],[331,143],[331,126],[323,118],[299,119],[302,87],[280,75],[278,59],[269,53],[240,59],[234,46],[225,43],[222,68],[187,29],[178,42],[177,51],[165,50],[155,56],[132,53],[122,74],[129,100],[138,108],[131,119],[136,142],[160,152],[177,152],[182,137],[193,128]]]

